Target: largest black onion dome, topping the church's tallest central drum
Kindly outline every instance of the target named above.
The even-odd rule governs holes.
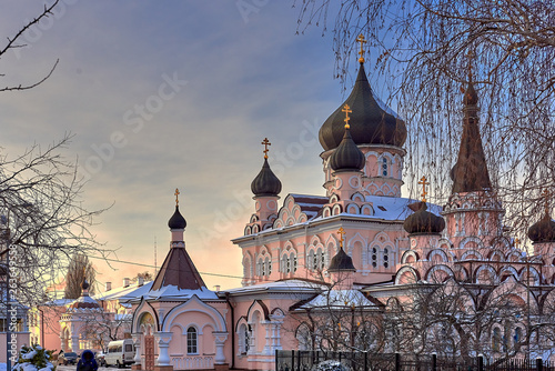
[[[406,140],[406,126],[403,120],[386,112],[374,98],[361,63],[359,76],[349,98],[333,112],[320,128],[320,144],[325,151],[337,148],[343,138],[343,107],[353,110],[351,136],[356,144],[390,144],[402,147]]]

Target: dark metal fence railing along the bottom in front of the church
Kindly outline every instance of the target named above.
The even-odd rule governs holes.
[[[555,371],[548,361],[476,358],[440,358],[436,354],[400,354],[333,351],[275,351],[275,371],[314,371],[335,360],[352,371]]]

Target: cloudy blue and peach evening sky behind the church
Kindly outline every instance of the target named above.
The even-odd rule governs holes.
[[[180,190],[186,250],[206,285],[241,285],[241,237],[251,181],[270,163],[287,193],[323,194],[317,130],[345,96],[334,79],[332,33],[296,33],[293,1],[60,0],[0,60],[0,83],[41,86],[0,96],[0,147],[20,153],[73,134],[63,151],[89,179],[93,227],[111,259],[158,267]],[[43,3],[4,0],[0,36],[17,32]],[[357,62],[349,71],[356,76]],[[94,259],[114,287],[153,268]],[[229,277],[220,277],[222,274]]]

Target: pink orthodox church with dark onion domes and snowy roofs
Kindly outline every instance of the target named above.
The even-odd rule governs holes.
[[[545,215],[528,233],[531,255],[505,234],[472,80],[462,97],[452,192],[445,205],[436,205],[426,202],[424,177],[421,200],[402,197],[407,130],[372,91],[362,48],[359,61],[351,94],[320,129],[324,194],[290,193],[280,203],[270,142],[262,142],[262,169],[251,183],[254,212],[232,241],[242,251],[241,288],[206,288],[186,251],[176,199],[168,223],[171,249],[158,277],[120,298],[133,309],[133,369],[272,370],[276,350],[326,347],[432,352],[431,340],[422,349],[417,342],[436,330],[454,339],[437,352],[552,357],[553,330],[534,325],[553,323],[555,221],[546,201]],[[443,315],[474,315],[483,325],[453,320],[450,328],[431,324],[417,333],[416,317],[401,315],[422,310],[416,289],[427,293],[437,318],[440,304],[452,300]],[[502,317],[507,308],[515,312]],[[486,312],[491,317],[478,319]],[[351,313],[350,320],[339,313]],[[397,322],[386,328],[392,318]]]

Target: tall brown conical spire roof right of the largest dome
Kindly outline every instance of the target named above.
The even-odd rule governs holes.
[[[492,188],[480,136],[477,102],[478,97],[471,79],[463,99],[464,119],[461,149],[458,150],[458,159],[451,169],[452,193],[483,191]]]

